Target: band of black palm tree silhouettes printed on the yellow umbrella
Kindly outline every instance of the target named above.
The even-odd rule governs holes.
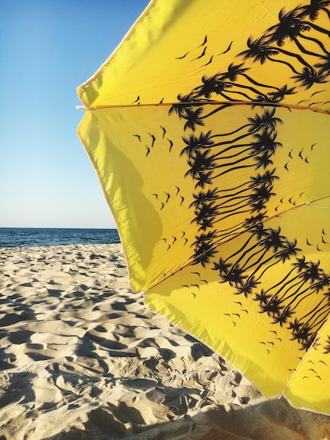
[[[169,110],[169,115],[183,121],[180,157],[187,162],[185,179],[191,179],[194,186],[189,206],[192,223],[197,225],[192,243],[194,263],[213,268],[219,283],[228,283],[234,295],[256,302],[272,324],[291,331],[301,349],[310,347],[329,316],[330,275],[319,261],[306,261],[296,238],[286,237],[279,227],[265,228],[263,222],[279,181],[275,157],[286,148],[277,133],[283,124],[277,117],[277,105],[301,89],[313,90],[329,80],[330,54],[322,38],[330,32],[317,25],[319,17],[330,18],[329,6],[330,0],[313,0],[291,11],[282,8],[275,25],[247,39],[246,50],[235,56],[241,63],[232,62],[227,71],[202,76],[200,84],[190,93],[179,94],[179,102]],[[286,66],[284,84],[265,84],[253,78],[254,63]],[[315,93],[320,91],[316,89],[311,97]],[[214,103],[219,97],[222,102]],[[246,123],[231,131],[214,128],[216,124],[204,129],[209,118],[214,121],[217,114],[225,115],[233,101],[250,104]],[[213,103],[211,110],[207,103]],[[305,155],[301,159],[307,165],[310,162]],[[243,170],[251,170],[251,175],[239,182]],[[296,200],[290,200],[294,205]],[[225,223],[223,228],[229,217],[231,226]],[[232,240],[237,235],[246,237],[239,245]],[[217,245],[224,241],[230,241],[231,254],[219,257]],[[277,265],[286,268],[286,273],[271,283],[268,273]],[[305,309],[303,304],[312,306]],[[328,353],[330,337],[326,344]]]

